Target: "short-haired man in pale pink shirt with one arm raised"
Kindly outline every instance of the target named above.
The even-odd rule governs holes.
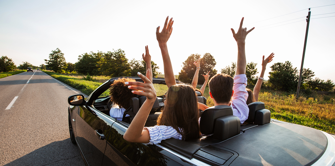
[[[247,77],[246,77],[246,52],[245,52],[245,39],[249,32],[255,27],[247,31],[243,28],[244,17],[241,20],[240,28],[237,33],[231,28],[233,37],[237,42],[237,68],[236,75],[231,78],[226,74],[216,74],[209,80],[209,95],[216,105],[229,105],[232,107],[233,115],[240,118],[241,124],[247,120],[249,115],[249,108],[246,103],[248,92],[246,90]],[[209,108],[205,104],[198,103],[199,109],[205,110]]]

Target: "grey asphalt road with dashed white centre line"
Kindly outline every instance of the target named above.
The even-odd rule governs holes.
[[[0,165],[85,165],[68,126],[78,92],[42,71],[0,79]]]

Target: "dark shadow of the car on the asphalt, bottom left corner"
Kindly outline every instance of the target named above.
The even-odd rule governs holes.
[[[24,147],[22,147],[24,148]],[[56,141],[35,151],[32,151],[5,166],[17,165],[71,165],[84,166],[84,161],[80,155],[79,149],[72,144],[70,138],[63,141]]]

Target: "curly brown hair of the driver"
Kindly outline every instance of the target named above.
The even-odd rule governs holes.
[[[136,95],[132,93],[132,89],[128,88],[128,85],[125,82],[134,82],[136,80],[132,78],[119,78],[114,80],[113,84],[109,88],[111,102],[127,109],[130,107],[130,98],[135,97]]]

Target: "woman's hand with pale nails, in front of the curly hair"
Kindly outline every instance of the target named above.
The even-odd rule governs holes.
[[[134,89],[134,91],[131,91],[134,94],[138,94],[141,96],[147,97],[147,100],[149,101],[155,101],[156,100],[156,90],[153,87],[152,82],[150,81],[150,69],[146,71],[146,76],[141,74],[140,72],[137,73],[137,75],[144,81],[142,82],[125,82],[126,85],[129,85],[129,89]],[[140,90],[140,91],[135,91]]]

